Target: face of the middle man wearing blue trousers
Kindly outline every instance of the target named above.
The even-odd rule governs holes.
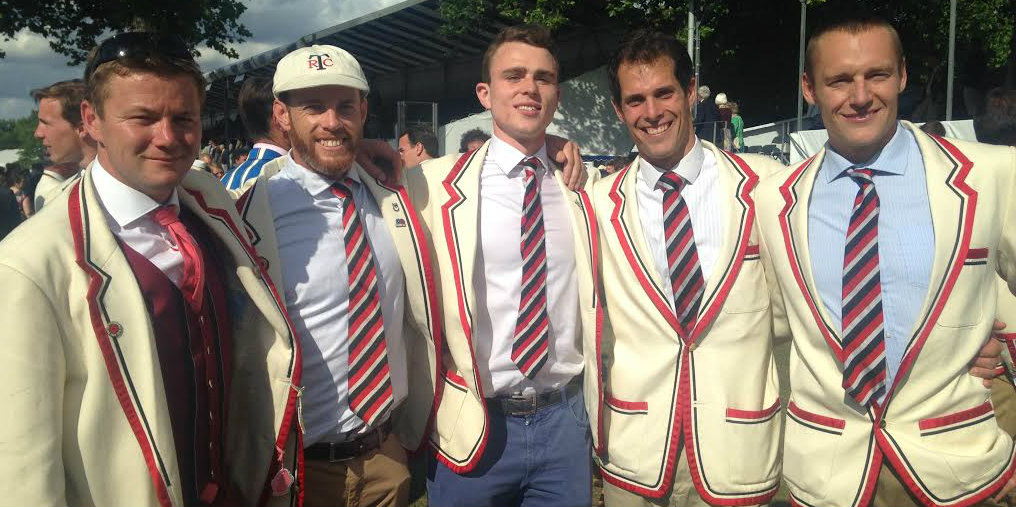
[[[558,109],[558,66],[550,51],[504,43],[490,62],[491,82],[477,84],[477,98],[494,117],[494,133],[523,153],[544,145]]]

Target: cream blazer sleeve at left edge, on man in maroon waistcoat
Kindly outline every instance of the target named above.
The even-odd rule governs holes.
[[[67,505],[63,464],[64,339],[34,280],[0,264],[0,491],[4,505]]]

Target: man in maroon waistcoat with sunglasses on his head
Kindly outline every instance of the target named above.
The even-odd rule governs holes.
[[[0,390],[9,415],[0,424],[0,503],[290,505],[299,481],[299,342],[232,199],[217,180],[189,171],[204,89],[197,65],[185,50],[168,56],[146,45],[148,35],[127,36],[89,62],[98,70],[82,109],[98,159],[0,244]],[[160,74],[111,57],[106,46],[118,44],[151,55]],[[139,107],[158,112],[150,124],[107,121]],[[180,126],[175,135],[165,135],[168,124]],[[128,201],[140,216],[123,218]],[[160,203],[180,211],[206,261],[197,270],[202,310],[181,310],[186,320],[165,316],[174,301],[187,305],[189,290],[153,296],[176,292],[163,273],[184,248],[182,236],[168,241],[137,209],[169,207]],[[157,242],[167,248],[151,248]],[[158,253],[146,260],[139,251]],[[179,327],[183,346],[170,341]],[[214,364],[192,364],[191,355]],[[187,439],[181,428],[211,434]]]

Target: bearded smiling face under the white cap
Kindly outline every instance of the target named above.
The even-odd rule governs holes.
[[[293,160],[338,179],[353,166],[364,135],[367,100],[348,86],[315,86],[275,101],[275,118],[293,142]]]

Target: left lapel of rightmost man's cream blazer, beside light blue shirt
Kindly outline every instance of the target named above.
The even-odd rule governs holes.
[[[808,249],[808,206],[824,155],[825,149],[823,148],[818,154],[798,166],[780,186],[779,190],[783,197],[784,206],[779,214],[779,224],[783,236],[783,247],[793,272],[795,282],[808,304],[816,325],[826,342],[836,357],[842,361],[844,358],[842,357],[839,331],[831,325],[832,320],[818,296],[819,292],[816,289],[812,272],[812,259]]]

